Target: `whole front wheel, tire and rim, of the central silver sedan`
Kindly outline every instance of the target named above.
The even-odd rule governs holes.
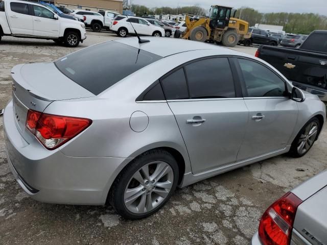
[[[306,155],[317,139],[319,131],[319,120],[314,117],[309,120],[305,126],[303,126],[295,137],[290,149],[290,155],[293,157],[302,157]]]

